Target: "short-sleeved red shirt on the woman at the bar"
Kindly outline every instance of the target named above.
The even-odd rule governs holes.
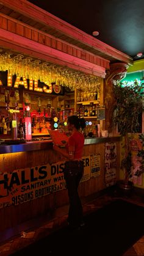
[[[82,157],[83,147],[84,147],[84,135],[79,131],[74,132],[69,138],[66,145],[66,150],[69,152],[68,148],[73,148],[74,159],[79,159]]]

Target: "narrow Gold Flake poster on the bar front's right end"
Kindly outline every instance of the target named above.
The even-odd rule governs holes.
[[[105,144],[105,183],[112,186],[116,182],[117,145],[114,142]]]

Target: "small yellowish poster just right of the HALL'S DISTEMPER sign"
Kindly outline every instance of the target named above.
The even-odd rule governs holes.
[[[91,178],[100,175],[100,155],[94,154],[91,156]]]

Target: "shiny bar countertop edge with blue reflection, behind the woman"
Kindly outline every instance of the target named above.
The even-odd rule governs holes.
[[[120,141],[121,136],[114,137],[96,137],[96,138],[85,138],[84,145],[99,144],[106,142]],[[48,150],[52,149],[52,140],[41,140],[41,141],[27,141],[26,143],[20,143],[13,141],[13,144],[0,144],[0,154],[5,153],[16,153],[16,152],[27,152],[35,150]]]

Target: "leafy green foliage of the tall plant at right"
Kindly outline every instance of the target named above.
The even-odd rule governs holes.
[[[113,84],[113,93],[116,99],[116,107],[113,112],[113,123],[118,124],[121,135],[135,133],[139,128],[139,115],[143,108],[143,84],[137,80],[130,86],[123,86],[122,82]]]

